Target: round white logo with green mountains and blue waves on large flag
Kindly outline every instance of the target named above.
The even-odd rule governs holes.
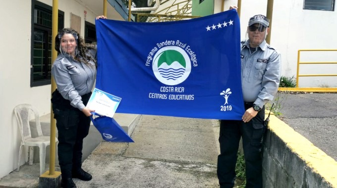
[[[153,73],[163,84],[178,85],[191,73],[191,60],[181,47],[163,47],[158,50],[153,59]]]

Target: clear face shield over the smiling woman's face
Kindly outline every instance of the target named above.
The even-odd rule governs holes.
[[[78,54],[77,34],[76,33],[58,33],[59,51],[65,54],[76,56]]]

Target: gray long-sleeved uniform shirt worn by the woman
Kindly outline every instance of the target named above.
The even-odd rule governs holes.
[[[59,54],[52,66],[58,92],[81,111],[85,107],[81,95],[91,92],[96,79],[95,63],[89,63],[93,66],[78,62],[72,56]]]

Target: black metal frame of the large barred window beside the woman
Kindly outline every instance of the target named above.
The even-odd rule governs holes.
[[[44,43],[46,47],[44,47],[44,55],[45,58],[43,60],[44,65],[48,65],[48,58],[52,58],[52,56],[48,56],[48,49],[49,45],[51,45],[52,41],[48,41],[49,34],[52,35],[52,28],[47,28],[45,26],[35,24],[34,23],[34,11],[35,9],[43,10],[52,13],[53,7],[49,6],[48,4],[42,3],[38,0],[32,0],[32,10],[31,10],[31,54],[30,54],[30,87],[37,87],[37,86],[45,86],[51,84],[51,78],[47,78],[44,80],[35,80],[34,81],[34,40],[35,40],[35,31],[42,31],[44,32],[44,36],[46,37],[47,41]],[[61,23],[58,23],[59,27],[64,27],[64,12],[58,10],[58,20],[61,19]],[[52,40],[53,40],[53,36]],[[50,44],[49,44],[50,43]],[[53,50],[54,47],[52,46],[51,49]]]

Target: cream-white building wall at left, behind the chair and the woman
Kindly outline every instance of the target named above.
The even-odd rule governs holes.
[[[52,6],[53,0],[40,0]],[[103,4],[103,1],[101,2]],[[13,108],[21,103],[34,105],[40,115],[50,113],[51,85],[30,87],[31,0],[1,0],[0,6],[0,179],[17,168],[21,135]],[[81,17],[81,36],[84,36],[84,10],[87,21],[95,24],[93,12],[76,0],[58,0],[64,12],[64,26],[70,27],[70,12]],[[112,12],[114,11],[114,12]],[[109,17],[109,15],[117,15]],[[108,4],[108,19],[122,20]],[[24,158],[21,159],[21,164]]]

